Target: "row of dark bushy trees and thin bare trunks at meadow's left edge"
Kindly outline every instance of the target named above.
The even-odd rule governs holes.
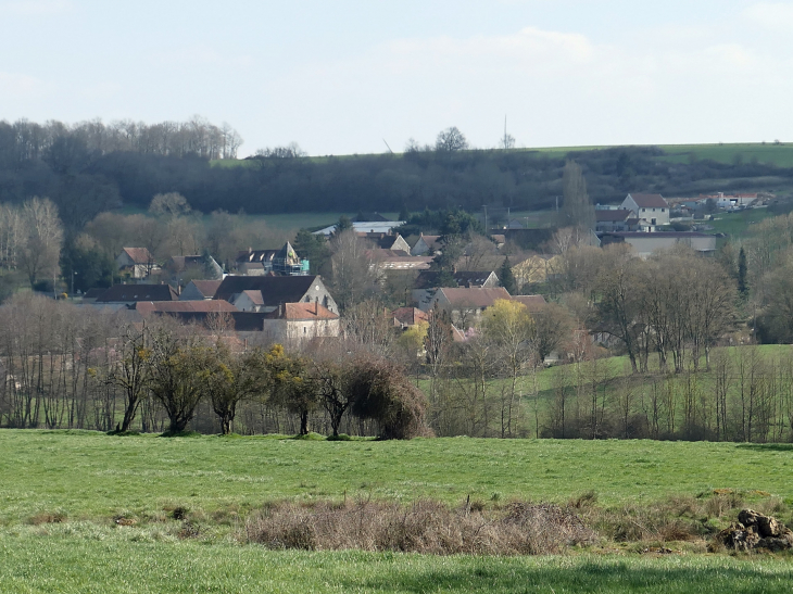
[[[17,295],[0,307],[0,425],[428,433],[426,399],[399,363],[343,341],[309,351],[261,342],[240,352],[225,333],[228,320],[216,317],[209,330],[167,318],[141,324],[124,313]],[[260,414],[267,420],[256,431],[250,419]]]

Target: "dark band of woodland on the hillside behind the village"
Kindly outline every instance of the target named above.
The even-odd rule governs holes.
[[[542,153],[470,148],[456,128],[403,153],[309,157],[295,143],[234,161],[240,135],[194,117],[185,123],[0,122],[0,202],[49,197],[70,229],[121,205],[144,208],[179,192],[201,213],[423,211],[553,207],[567,157],[581,166],[592,202],[637,188],[666,194],[772,189],[793,169],[761,163],[671,163],[657,148]],[[221,166],[223,164],[229,166]]]

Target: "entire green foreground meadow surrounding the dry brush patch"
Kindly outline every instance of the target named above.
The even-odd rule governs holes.
[[[779,444],[4,430],[0,592],[789,592],[789,556],[685,546],[533,558],[290,552],[246,544],[239,532],[250,510],[280,498],[562,503],[594,490],[619,508],[719,489],[790,505],[791,469],[793,446]],[[194,538],[179,535],[177,507],[202,527]],[[119,517],[135,526],[116,526]]]

